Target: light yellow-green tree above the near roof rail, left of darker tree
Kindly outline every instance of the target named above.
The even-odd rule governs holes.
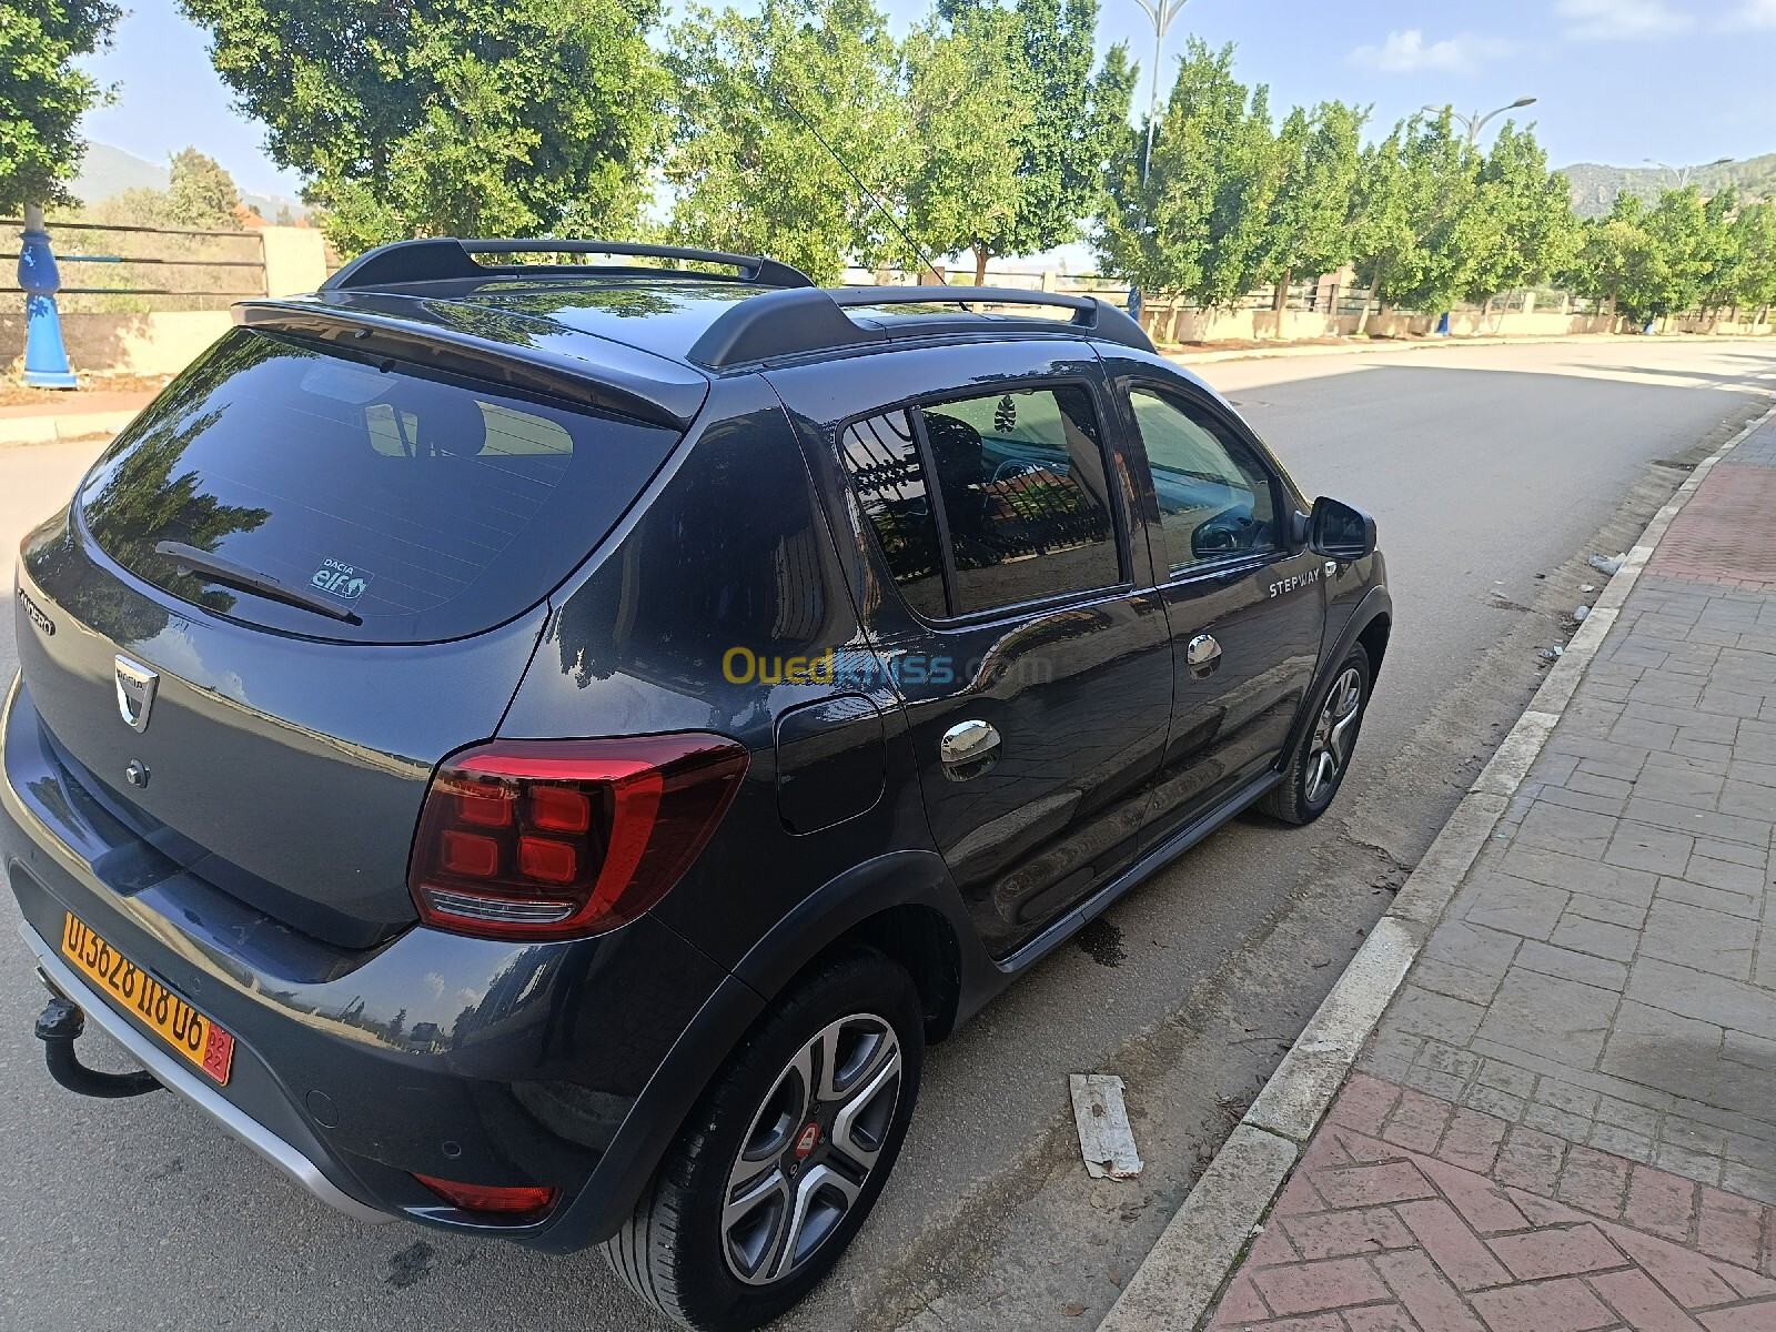
[[[925,254],[975,258],[986,277],[993,238],[1018,224],[1019,144],[1035,121],[1030,87],[1012,69],[1018,28],[1003,9],[934,16],[906,41],[906,227]],[[906,256],[902,263],[916,263]]]

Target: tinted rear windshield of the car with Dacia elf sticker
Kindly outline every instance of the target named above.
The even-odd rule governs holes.
[[[80,508],[112,559],[181,600],[316,638],[435,641],[547,597],[677,440],[236,329],[99,458]],[[163,542],[362,623],[183,574]]]

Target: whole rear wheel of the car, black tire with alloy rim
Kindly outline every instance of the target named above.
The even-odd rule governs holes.
[[[698,1332],[799,1302],[876,1204],[925,1057],[913,979],[874,948],[821,963],[760,1018],[604,1254]]]

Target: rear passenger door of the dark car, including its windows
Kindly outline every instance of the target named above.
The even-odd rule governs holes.
[[[856,496],[931,831],[989,950],[1016,954],[1133,863],[1170,718],[1098,357],[973,345],[773,382]]]

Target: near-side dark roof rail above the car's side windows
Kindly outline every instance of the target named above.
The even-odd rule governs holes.
[[[847,309],[879,305],[961,305],[957,318],[922,318],[908,325],[858,321]],[[1071,309],[1069,320],[993,316],[970,305],[1050,305]],[[1027,291],[1000,286],[847,286],[803,291],[762,291],[742,300],[716,320],[696,339],[689,359],[710,369],[753,361],[821,352],[897,337],[925,337],[934,332],[979,332],[982,320],[1003,318],[1018,332],[1073,332],[1101,337],[1142,352],[1153,339],[1124,311],[1096,297],[1067,291]]]

